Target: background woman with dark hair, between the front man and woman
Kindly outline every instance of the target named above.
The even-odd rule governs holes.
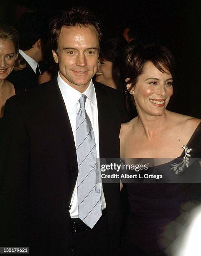
[[[127,41],[121,37],[105,39],[100,47],[99,69],[96,81],[114,89],[120,87],[120,56]]]

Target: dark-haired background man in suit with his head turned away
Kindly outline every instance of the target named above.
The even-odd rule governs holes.
[[[17,24],[19,33],[19,58],[24,69],[13,71],[7,80],[29,90],[38,85],[38,77],[44,71],[39,67],[43,60],[43,45],[46,42],[45,23],[35,13],[25,13]]]

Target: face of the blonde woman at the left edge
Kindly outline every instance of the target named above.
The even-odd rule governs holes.
[[[15,66],[15,45],[8,40],[0,39],[0,80],[5,80]]]

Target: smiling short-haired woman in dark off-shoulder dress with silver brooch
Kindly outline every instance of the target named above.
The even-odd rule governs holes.
[[[174,66],[173,55],[165,47],[127,46],[123,75],[138,116],[122,124],[120,146],[124,159],[166,159],[147,172],[171,177],[176,183],[189,174],[184,162],[190,158],[189,152],[192,158],[201,156],[201,120],[166,110],[173,95]],[[186,172],[179,169],[182,164]],[[142,182],[147,183],[145,179]],[[130,214],[122,236],[122,255],[166,255],[174,240],[173,235],[167,236],[167,227],[181,214],[182,203],[193,195],[192,186],[157,182],[124,184]],[[193,188],[200,191],[200,184]]]

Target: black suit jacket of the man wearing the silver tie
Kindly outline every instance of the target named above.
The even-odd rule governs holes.
[[[100,158],[119,158],[122,96],[110,87],[94,85]],[[45,247],[52,255],[56,245],[59,255],[68,255],[69,205],[78,166],[71,124],[56,79],[6,102],[0,143],[0,246]],[[115,255],[120,185],[103,184],[103,189],[110,253]]]

